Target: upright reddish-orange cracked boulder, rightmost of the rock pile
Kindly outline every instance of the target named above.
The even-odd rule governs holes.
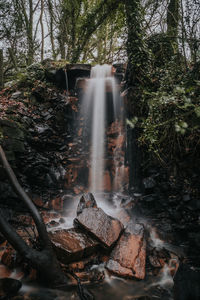
[[[145,261],[144,226],[130,222],[112,250],[106,268],[118,276],[144,279]]]

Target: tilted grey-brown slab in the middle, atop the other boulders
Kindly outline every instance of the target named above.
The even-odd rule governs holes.
[[[85,208],[74,220],[105,247],[111,247],[123,231],[122,223],[108,216],[101,208]]]

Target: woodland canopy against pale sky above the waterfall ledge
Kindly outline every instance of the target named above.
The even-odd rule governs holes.
[[[197,61],[200,14],[195,0],[1,0],[4,56],[15,70],[45,58],[73,63],[125,61],[133,8],[143,40],[165,35],[173,51]]]

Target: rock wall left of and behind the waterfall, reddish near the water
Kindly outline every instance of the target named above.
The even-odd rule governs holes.
[[[89,146],[82,144],[78,118],[90,68],[67,65],[56,69],[48,61],[46,65],[33,66],[27,77],[1,91],[1,144],[17,178],[38,206],[62,209],[64,194],[82,193],[89,185]],[[122,79],[119,67],[116,76]],[[107,130],[104,188],[108,192],[115,176],[113,152],[125,155],[125,139],[119,141],[118,130],[119,124],[114,123]],[[128,168],[122,184],[128,185]],[[2,167],[0,193],[1,204],[21,209]]]

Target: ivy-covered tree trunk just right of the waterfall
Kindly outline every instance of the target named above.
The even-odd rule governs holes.
[[[126,22],[128,27],[127,55],[128,65],[125,75],[128,89],[127,117],[138,119],[145,116],[146,107],[141,101],[143,90],[150,83],[149,54],[145,42],[145,33],[142,28],[144,16],[140,0],[125,0]],[[134,193],[142,192],[141,152],[138,139],[141,129],[136,126],[128,130],[128,161],[130,165],[129,188]]]

